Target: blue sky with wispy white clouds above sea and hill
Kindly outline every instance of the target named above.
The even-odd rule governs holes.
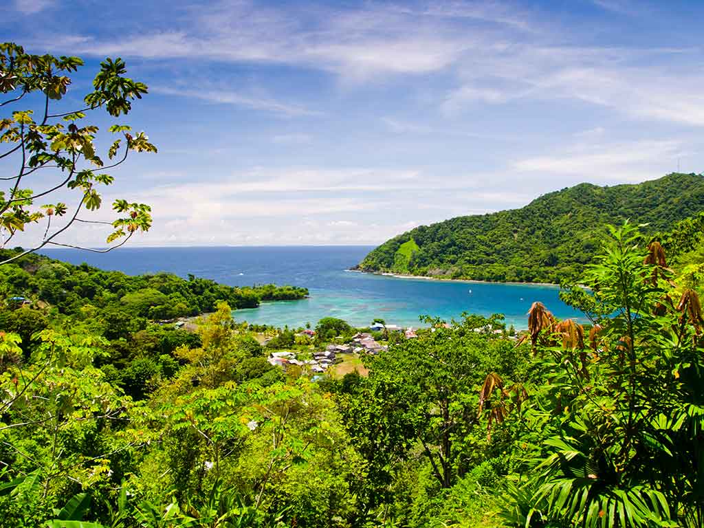
[[[379,244],[704,165],[701,1],[6,2],[1,40],[86,61],[57,110],[106,56],[149,85],[119,122],[159,152],[105,192],[151,204],[134,246]]]

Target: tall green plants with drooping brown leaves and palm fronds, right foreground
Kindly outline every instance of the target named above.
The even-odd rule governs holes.
[[[685,289],[675,297],[662,246],[644,248],[628,223],[610,227],[604,256],[583,283],[589,291],[570,298],[590,315],[601,314],[589,339],[574,321],[555,321],[544,307],[532,310],[532,341],[546,358],[549,383],[529,412],[538,417],[532,428],[548,434],[524,486],[529,501],[521,498],[526,491],[514,490],[507,520],[511,526],[702,526],[698,296]]]

